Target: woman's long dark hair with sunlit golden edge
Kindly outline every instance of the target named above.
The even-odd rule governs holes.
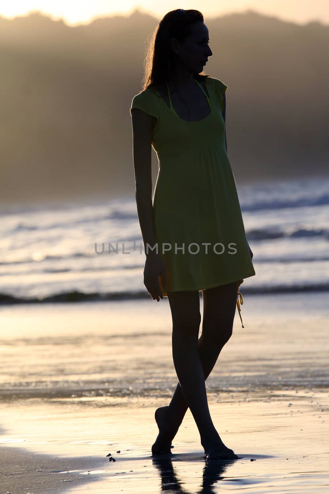
[[[191,25],[197,21],[204,22],[199,10],[181,8],[171,10],[161,19],[151,36],[146,51],[143,90],[149,86],[156,88],[173,73],[175,53],[171,48],[170,40],[176,38],[183,42],[191,34]],[[208,79],[209,75],[203,72],[193,73],[193,78],[201,81]]]

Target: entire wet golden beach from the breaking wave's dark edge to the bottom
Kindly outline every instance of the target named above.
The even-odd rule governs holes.
[[[177,383],[167,301],[2,307],[0,492],[328,493],[324,298],[244,297],[206,381],[240,458],[209,463],[189,410],[172,454],[151,456]]]

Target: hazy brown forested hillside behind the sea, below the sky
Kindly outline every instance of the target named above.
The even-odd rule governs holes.
[[[131,100],[158,19],[0,17],[0,202],[134,197]],[[329,173],[329,26],[205,19],[237,182]],[[154,151],[153,188],[158,170]]]

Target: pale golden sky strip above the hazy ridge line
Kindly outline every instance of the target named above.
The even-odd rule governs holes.
[[[185,1],[167,0],[10,0],[0,2],[0,15],[15,17],[25,15],[32,10],[40,10],[54,19],[63,19],[69,25],[87,24],[95,17],[114,14],[130,15],[139,8],[161,19],[169,10],[176,8],[195,8],[207,17],[226,13],[245,11],[249,8],[260,13],[280,17],[281,19],[304,24],[319,20],[329,24],[329,0],[218,0]]]

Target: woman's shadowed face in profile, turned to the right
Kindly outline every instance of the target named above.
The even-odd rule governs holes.
[[[212,56],[213,52],[208,44],[209,33],[208,28],[202,21],[194,22],[191,25],[191,34],[180,43],[175,38],[172,38],[172,48],[177,55],[178,62],[184,68],[191,72],[199,74],[203,71],[208,57]]]

